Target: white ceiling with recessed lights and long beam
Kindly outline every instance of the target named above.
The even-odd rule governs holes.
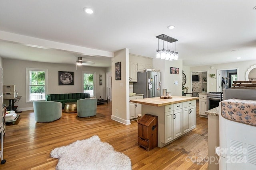
[[[0,0],[0,31],[24,35],[30,45],[38,45],[33,37],[106,53],[128,48],[152,58],[156,36],[164,33],[178,39],[183,65],[229,63],[256,59],[255,6],[255,0]],[[84,7],[94,13],[85,14]],[[45,49],[36,48],[22,41],[0,34],[0,56],[50,63],[83,57],[92,66],[111,66],[111,53],[105,57],[47,43],[40,44]]]

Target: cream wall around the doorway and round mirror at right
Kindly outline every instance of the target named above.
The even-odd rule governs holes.
[[[213,64],[213,65],[205,65],[205,66],[195,66],[190,67],[190,72],[196,71],[207,71],[208,70],[208,92],[218,92],[217,87],[217,79],[211,78],[209,74],[217,75],[217,70],[222,69],[238,69],[238,80],[245,80],[245,73],[252,65],[256,64],[256,60],[253,61],[241,61],[241,62],[234,62],[234,63],[223,63],[223,64]],[[210,66],[214,68],[211,69]],[[191,83],[191,82],[190,82]]]

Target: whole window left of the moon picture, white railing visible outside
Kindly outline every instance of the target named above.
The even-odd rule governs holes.
[[[26,68],[26,102],[45,100],[47,80],[47,69]]]

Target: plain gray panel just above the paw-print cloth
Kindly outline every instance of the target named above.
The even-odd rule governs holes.
[[[256,90],[223,89],[223,100],[228,99],[256,100]]]

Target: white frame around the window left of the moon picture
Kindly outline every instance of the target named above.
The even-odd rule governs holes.
[[[29,79],[29,72],[30,71],[44,71],[44,87],[45,87],[45,95],[48,94],[48,69],[47,68],[28,68],[26,67],[26,103],[32,103],[33,101],[30,101],[30,79]],[[38,101],[38,100],[36,100]]]

